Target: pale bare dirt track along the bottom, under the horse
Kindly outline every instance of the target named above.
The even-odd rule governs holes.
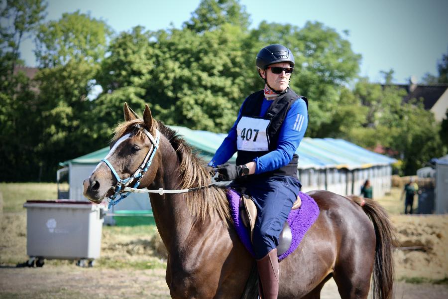
[[[322,299],[339,299],[329,281]],[[163,298],[168,299],[165,270],[114,270],[74,265],[43,268],[0,268],[0,297],[20,299]],[[447,285],[399,282],[395,298],[446,299]]]

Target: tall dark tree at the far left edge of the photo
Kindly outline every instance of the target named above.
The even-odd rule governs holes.
[[[19,45],[44,17],[41,0],[6,0],[0,9],[0,180],[38,177],[38,142],[35,95],[30,79],[14,73],[20,60]]]

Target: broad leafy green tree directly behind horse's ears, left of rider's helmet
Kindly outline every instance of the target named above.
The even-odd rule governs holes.
[[[125,98],[126,92],[134,97],[127,87],[141,88],[138,97],[164,123],[223,132],[243,100],[243,39],[244,33],[230,24],[199,35],[187,28],[123,32],[112,40],[112,55],[102,64],[98,82],[105,94],[100,98]]]

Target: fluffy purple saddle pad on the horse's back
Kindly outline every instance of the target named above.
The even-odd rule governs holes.
[[[285,253],[278,257],[279,261],[289,256],[294,252],[294,250],[297,249],[300,241],[302,241],[303,236],[319,216],[319,207],[314,199],[303,192],[300,192],[299,196],[302,200],[302,205],[296,210],[291,210],[287,219],[292,233],[291,246]],[[233,225],[235,227],[236,233],[238,234],[238,237],[243,243],[244,247],[246,247],[249,253],[253,257],[255,257],[252,243],[250,242],[249,231],[242,223],[241,217],[239,215],[239,198],[240,194],[238,192],[231,188],[227,188],[227,199],[229,202],[230,214],[233,219]]]

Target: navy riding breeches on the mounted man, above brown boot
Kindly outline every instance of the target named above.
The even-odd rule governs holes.
[[[255,258],[261,259],[278,246],[278,237],[301,188],[292,176],[257,178],[243,184],[257,207],[253,231]]]

